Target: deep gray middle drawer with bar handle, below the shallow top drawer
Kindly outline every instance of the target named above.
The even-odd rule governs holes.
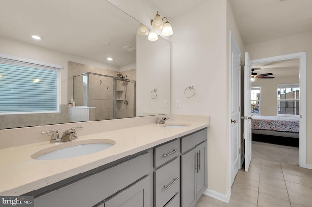
[[[180,190],[180,157],[154,171],[154,206],[163,207]]]

